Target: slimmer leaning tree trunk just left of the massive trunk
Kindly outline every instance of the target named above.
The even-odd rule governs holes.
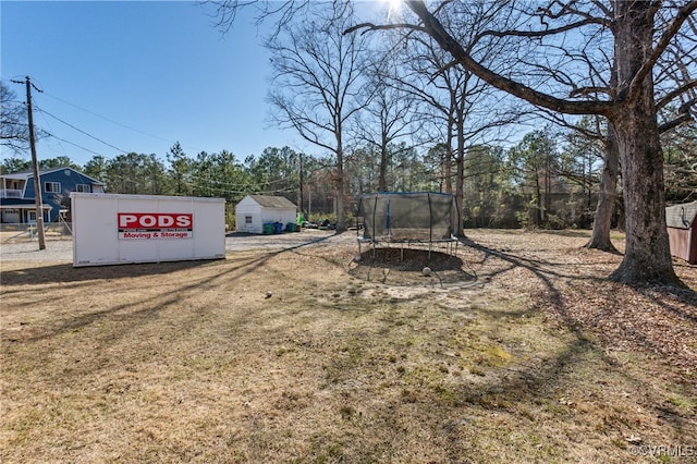
[[[592,223],[592,235],[586,248],[600,249],[609,253],[620,253],[610,241],[612,213],[617,196],[617,170],[620,169],[620,149],[614,134],[614,127],[608,123],[608,139],[606,145],[604,167],[600,178],[598,206]]]

